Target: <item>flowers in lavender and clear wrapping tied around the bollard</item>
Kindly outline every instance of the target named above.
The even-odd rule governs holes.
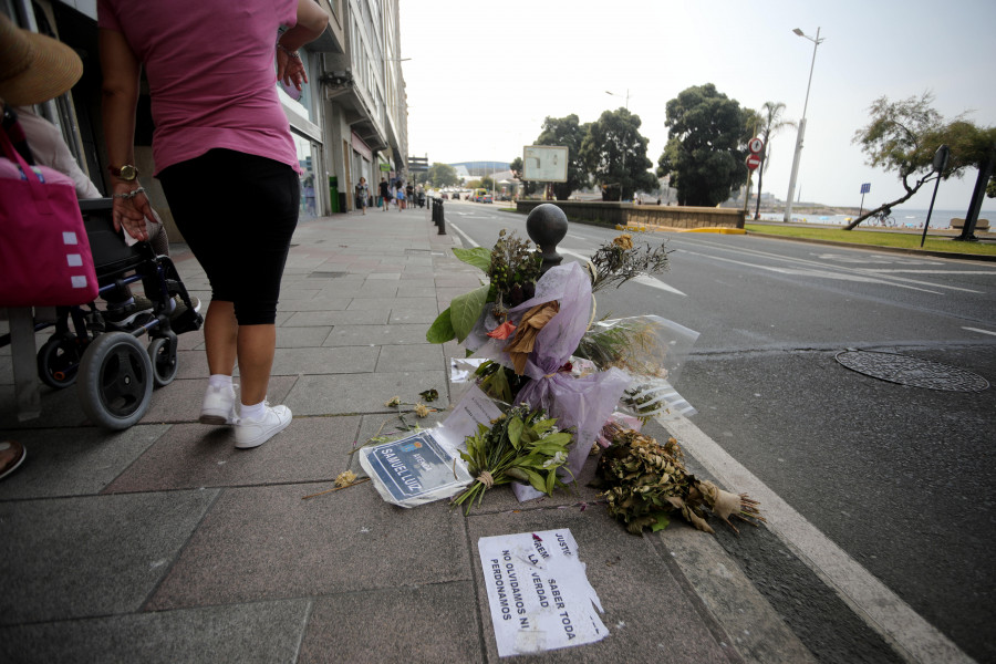
[[[573,432],[573,444],[564,449],[566,459],[551,466],[554,471],[560,468],[560,479],[550,480],[547,475],[540,485],[529,474],[515,470],[513,465],[509,466],[511,474],[500,470],[502,483],[518,480],[513,490],[520,500],[539,497],[558,486],[558,481],[575,477],[602,425],[621,401],[631,413],[644,418],[674,403],[673,390],[655,382],[676,369],[668,369],[671,365],[662,359],[667,354],[667,344],[674,341],[671,336],[660,338],[667,321],[656,317],[603,321],[585,334],[594,317],[592,291],[609,286],[619,288],[637,276],[667,269],[664,242],[652,248],[624,234],[599,248],[587,269],[568,263],[543,274],[539,252],[530,252],[528,242],[505,230],[490,250],[478,247],[454,249],[454,253],[483,270],[488,281],[455,298],[429,328],[426,339],[434,343],[457,339],[474,352],[470,360],[484,361],[475,377],[486,394],[506,406],[525,404],[530,412],[549,413],[562,428]],[[694,341],[696,334],[686,332]],[[595,371],[573,373],[571,359],[575,351],[591,357],[589,366]],[[500,438],[499,433],[494,436]],[[484,445],[480,434],[475,440],[468,439],[467,445],[468,463],[469,458],[477,459],[475,468],[481,480],[461,498],[469,500],[473,496],[479,501],[487,488],[501,484],[494,481],[489,467],[495,457],[484,458],[480,452],[499,446],[495,440]],[[501,449],[507,450],[508,446]],[[549,490],[548,481],[553,481]]]

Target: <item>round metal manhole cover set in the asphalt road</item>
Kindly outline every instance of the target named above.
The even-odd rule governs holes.
[[[912,387],[982,392],[989,386],[988,381],[971,371],[899,353],[842,351],[837,361],[867,376]]]

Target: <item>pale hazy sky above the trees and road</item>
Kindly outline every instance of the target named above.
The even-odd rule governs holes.
[[[996,1],[947,0],[401,0],[409,154],[429,163],[511,162],[543,118],[582,123],[626,105],[656,166],[665,106],[713,83],[741,106],[786,104],[798,121],[816,48],[797,194],[865,209],[899,198],[895,174],[852,143],[880,96],[924,92],[945,117],[996,125]],[[606,93],[612,93],[606,94]],[[788,194],[796,129],[769,146],[764,189]],[[935,209],[967,210],[978,172],[942,181]],[[755,191],[756,191],[755,177]],[[901,207],[926,209],[933,183]],[[987,198],[984,210],[996,210]]]

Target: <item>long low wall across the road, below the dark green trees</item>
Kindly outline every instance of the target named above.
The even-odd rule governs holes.
[[[744,228],[744,210],[732,208],[701,208],[632,203],[580,200],[519,200],[516,209],[528,214],[538,205],[552,203],[568,219],[596,226],[662,226],[665,228]]]

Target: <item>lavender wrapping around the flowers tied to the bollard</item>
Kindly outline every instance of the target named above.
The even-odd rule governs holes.
[[[619,369],[580,378],[561,371],[591,320],[591,280],[578,263],[558,266],[547,271],[536,283],[536,297],[509,310],[509,319],[518,324],[526,311],[553,300],[560,302],[560,312],[537,335],[525,370],[531,380],[516,401],[525,402],[533,409],[543,408],[557,417],[558,427],[573,429],[574,442],[564,467],[578,477],[592,443],[632,378]],[[489,339],[475,356],[512,366],[508,354],[501,350],[506,344],[506,341]],[[564,479],[570,481],[571,477]],[[527,485],[517,484],[512,488],[519,500],[542,495]]]

